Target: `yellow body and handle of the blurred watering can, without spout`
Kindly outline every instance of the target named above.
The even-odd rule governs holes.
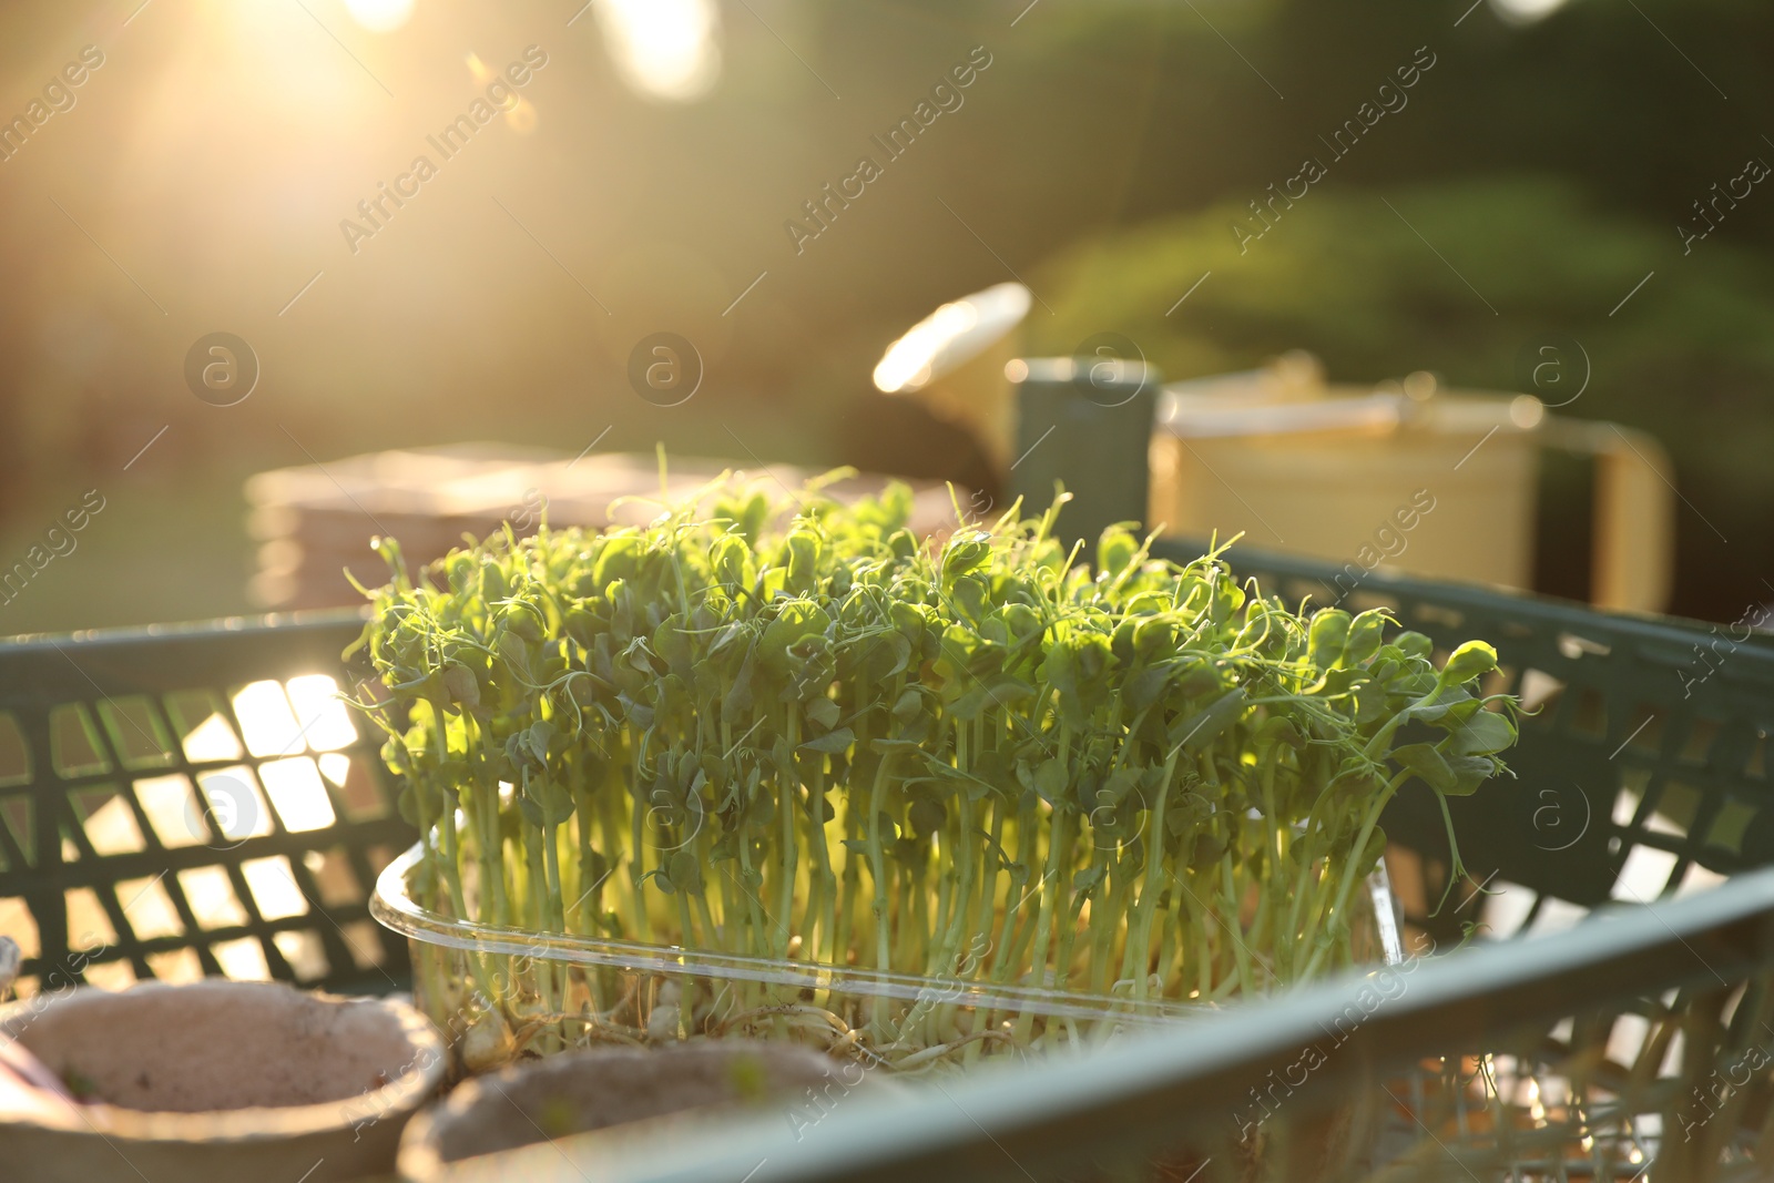
[[[1166,534],[1327,559],[1346,596],[1375,569],[1533,585],[1540,450],[1597,461],[1593,599],[1662,610],[1673,484],[1650,436],[1554,419],[1533,396],[1327,387],[1293,355],[1267,371],[1166,388],[1150,521]]]

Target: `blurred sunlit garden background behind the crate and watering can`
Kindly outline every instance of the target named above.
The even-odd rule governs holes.
[[[1570,333],[1593,380],[1565,413],[1675,456],[1671,608],[1735,619],[1774,598],[1774,193],[1678,227],[1774,161],[1774,11],[1469,2],[655,0],[708,34],[662,98],[612,51],[614,0],[16,0],[0,119],[82,46],[105,64],[0,163],[0,564],[87,490],[106,509],[0,633],[250,610],[241,481],[383,447],[608,427],[603,450],[970,479],[969,442],[869,371],[1011,275],[1036,349],[1119,332],[1169,378],[1306,348],[1338,381],[1508,390],[1529,339]],[[341,220],[525,46],[525,117],[353,254]],[[976,46],[963,106],[797,252],[784,222]],[[1425,46],[1409,105],[1240,250],[1249,202]],[[183,381],[216,330],[263,364],[239,406]],[[683,406],[626,381],[660,330],[706,362]],[[1586,495],[1558,466],[1543,493],[1536,582],[1581,596]]]

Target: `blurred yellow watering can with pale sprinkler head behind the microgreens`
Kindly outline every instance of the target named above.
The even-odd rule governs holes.
[[[1013,495],[1073,495],[1066,537],[1121,520],[1368,571],[1533,585],[1542,449],[1595,461],[1591,596],[1659,612],[1669,598],[1673,468],[1650,435],[1550,415],[1527,394],[1456,392],[1426,372],[1327,385],[1316,358],[1160,385],[1141,358],[1020,358],[1029,291],[999,284],[942,305],[875,369],[970,431]]]

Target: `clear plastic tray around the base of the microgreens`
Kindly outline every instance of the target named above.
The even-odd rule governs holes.
[[[413,995],[445,1032],[456,1069],[600,1043],[750,1036],[795,1039],[898,1071],[1079,1050],[1199,1018],[1213,1004],[703,952],[459,921],[410,890],[413,846],[381,873],[371,913],[404,933]],[[1385,867],[1361,899],[1357,949],[1403,960]]]

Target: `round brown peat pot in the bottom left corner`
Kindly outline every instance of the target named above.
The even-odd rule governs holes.
[[[387,1172],[444,1073],[442,1041],[413,1007],[273,983],[41,995],[0,1007],[9,1039],[87,1101],[0,1114],[0,1162],[18,1183]]]

